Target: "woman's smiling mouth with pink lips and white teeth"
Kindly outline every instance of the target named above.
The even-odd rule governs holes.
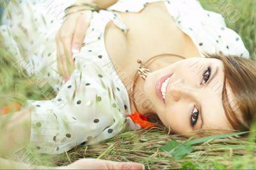
[[[168,87],[168,84],[170,82],[172,74],[165,75],[164,77],[161,77],[156,82],[156,94],[157,97],[165,104],[165,97],[166,97],[166,89]]]

